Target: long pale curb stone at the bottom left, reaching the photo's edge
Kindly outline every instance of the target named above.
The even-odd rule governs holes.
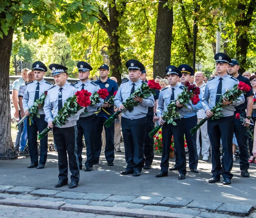
[[[3,205],[10,205],[10,206],[19,206],[19,207],[38,207],[44,209],[55,209],[59,210],[65,202],[57,201],[34,201],[34,200],[24,200],[24,199],[17,199],[17,198],[6,198],[0,200],[0,204]]]

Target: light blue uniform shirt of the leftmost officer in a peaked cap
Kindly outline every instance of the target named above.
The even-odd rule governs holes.
[[[37,83],[38,81],[35,80],[26,84],[26,91],[22,99],[24,110],[29,110],[29,108],[34,105],[35,90],[38,85]],[[45,91],[49,90],[52,86],[52,83],[47,82],[44,79],[39,81],[39,98]],[[42,107],[38,108],[38,113],[44,114],[44,109]]]

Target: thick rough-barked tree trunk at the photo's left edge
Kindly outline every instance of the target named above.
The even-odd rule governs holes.
[[[6,150],[14,150],[11,136],[11,107],[9,94],[9,68],[10,57],[12,51],[12,36],[13,29],[10,29],[8,35],[3,34],[3,39],[0,39],[0,154]]]

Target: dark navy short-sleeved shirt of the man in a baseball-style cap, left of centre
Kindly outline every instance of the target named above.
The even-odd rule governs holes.
[[[104,99],[104,101],[108,100],[111,96],[113,96],[113,94],[115,93],[115,91],[118,90],[118,84],[117,82],[115,82],[112,79],[107,79],[106,82],[102,82],[100,79],[97,80],[95,82],[97,85],[99,85],[100,88],[106,88],[108,89],[108,97],[106,99]],[[99,108],[97,108],[98,110]],[[112,115],[114,113],[114,106],[111,105],[108,108],[104,108],[104,110],[106,110],[110,115]],[[110,115],[108,113],[106,113],[104,110],[100,110],[100,112],[97,114],[97,116],[100,117],[110,117]]]

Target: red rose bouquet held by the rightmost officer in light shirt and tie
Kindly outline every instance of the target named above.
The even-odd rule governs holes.
[[[211,109],[213,113],[212,120],[220,119],[220,117],[223,117],[223,115],[221,114],[221,110],[222,108],[227,106],[222,104],[223,98],[226,98],[228,101],[237,101],[241,94],[250,91],[250,89],[250,85],[247,85],[246,83],[240,81],[239,84],[234,85],[231,90],[221,95],[219,102],[217,102],[215,106]],[[192,128],[192,130],[190,130],[190,133],[194,135],[197,132],[197,130],[207,121],[207,119],[207,117],[202,119],[198,123],[198,125],[196,125],[194,128]]]

